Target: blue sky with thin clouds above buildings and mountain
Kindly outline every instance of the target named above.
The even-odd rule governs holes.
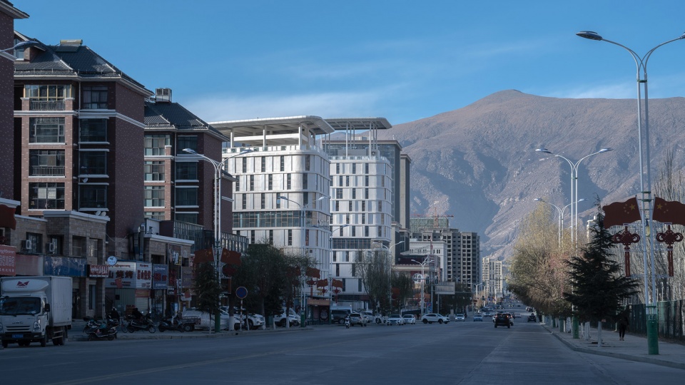
[[[15,29],[83,39],[206,121],[427,118],[517,89],[635,98],[640,55],[685,32],[685,1],[12,0]],[[685,93],[685,40],[649,61],[649,97]]]

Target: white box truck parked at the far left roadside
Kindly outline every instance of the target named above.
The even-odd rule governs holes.
[[[0,339],[64,345],[71,329],[71,277],[0,277]]]

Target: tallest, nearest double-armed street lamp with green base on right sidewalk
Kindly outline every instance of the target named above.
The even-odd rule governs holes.
[[[647,61],[656,48],[664,46],[665,44],[671,43],[673,41],[678,41],[685,39],[685,34],[681,34],[676,39],[671,39],[669,41],[664,41],[664,43],[651,48],[644,56],[640,57],[635,51],[624,46],[623,44],[617,43],[615,41],[607,40],[599,36],[597,32],[593,31],[580,31],[576,35],[590,40],[596,41],[606,41],[607,43],[612,43],[615,46],[624,48],[630,53],[636,66],[636,81],[637,81],[637,134],[638,134],[638,145],[640,151],[640,192],[641,192],[641,212],[642,212],[642,234],[644,237],[649,237],[649,265],[651,274],[651,294],[649,296],[649,283],[647,279],[647,257],[648,250],[646,240],[642,242],[642,262],[644,265],[644,303],[646,306],[647,315],[647,351],[649,354],[659,354],[659,339],[658,339],[658,315],[656,314],[656,305],[654,293],[656,292],[656,281],[654,277],[654,237],[651,235],[649,230],[649,220],[651,219],[651,177],[649,175],[649,109],[648,109],[648,96],[647,96]],[[642,76],[640,76],[640,70],[642,70]],[[642,102],[641,102],[641,87],[644,87],[644,130],[642,121]],[[644,135],[644,143],[643,143]],[[643,159],[644,158],[644,159]]]

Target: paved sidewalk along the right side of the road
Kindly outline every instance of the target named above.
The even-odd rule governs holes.
[[[582,336],[573,339],[571,333],[559,332],[558,327],[549,327],[547,324],[542,324],[542,327],[575,351],[685,369],[685,345],[659,341],[659,354],[648,354],[646,337],[626,334],[624,341],[620,341],[618,332],[602,329],[600,348],[597,347],[597,329],[590,329],[590,341],[587,342]]]

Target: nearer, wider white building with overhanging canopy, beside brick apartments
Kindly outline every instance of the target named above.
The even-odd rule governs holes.
[[[313,257],[328,279],[330,161],[318,142],[333,128],[318,116],[210,123],[230,138],[223,157],[233,183],[233,232]],[[280,198],[279,198],[280,197]]]

